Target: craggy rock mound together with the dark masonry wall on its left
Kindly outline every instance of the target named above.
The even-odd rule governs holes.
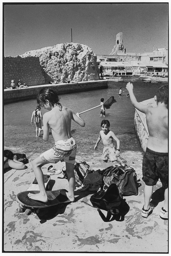
[[[29,51],[17,57],[5,57],[4,87],[9,86],[12,79],[15,82],[21,79],[29,86],[65,83],[67,79],[75,82],[98,80],[96,60],[92,49],[79,43],[62,43]],[[19,62],[22,67],[19,67]],[[33,71],[37,73],[37,65],[39,77],[36,77],[35,82]]]

